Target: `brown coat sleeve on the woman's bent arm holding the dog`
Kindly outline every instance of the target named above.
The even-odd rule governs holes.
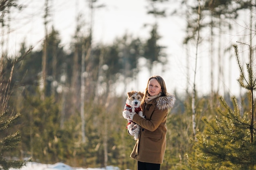
[[[167,113],[168,113],[167,108],[164,109],[164,110],[155,109],[154,112],[152,113],[152,116],[151,116],[150,120],[144,119],[144,118],[140,117],[138,114],[135,114],[133,116],[132,121],[139,124],[141,127],[153,132],[162,123],[162,121],[163,121],[163,119],[164,119],[164,117],[166,116]]]

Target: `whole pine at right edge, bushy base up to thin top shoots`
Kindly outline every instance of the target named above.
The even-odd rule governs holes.
[[[201,170],[252,170],[256,168],[256,142],[254,140],[254,96],[256,76],[252,69],[253,60],[249,47],[249,62],[246,64],[247,74],[243,71],[238,56],[238,46],[234,46],[240,77],[241,87],[249,91],[250,110],[240,113],[236,97],[232,97],[233,106],[229,106],[223,97],[216,117],[210,121],[203,118],[206,128],[198,134],[195,145],[197,160],[193,166]]]

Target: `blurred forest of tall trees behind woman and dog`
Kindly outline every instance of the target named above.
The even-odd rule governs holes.
[[[136,169],[129,158],[135,141],[121,113],[126,93],[143,91],[148,77],[158,74],[177,99],[168,115],[163,170],[255,169],[255,2],[184,0],[174,8],[171,0],[147,0],[153,22],[145,23],[146,38],[125,33],[103,43],[94,42],[94,13],[107,6],[88,0],[85,13],[75,16],[68,47],[52,24],[51,0],[44,1],[40,15],[39,45],[27,45],[26,39],[10,45],[18,29],[13,14],[23,16],[27,6],[22,2],[0,4],[1,159]],[[159,21],[171,18],[185,23],[179,37],[184,57],[161,42]],[[172,62],[179,61],[175,57],[183,68]],[[3,124],[10,119],[14,125],[7,130]],[[20,136],[16,149],[3,149],[13,133]]]

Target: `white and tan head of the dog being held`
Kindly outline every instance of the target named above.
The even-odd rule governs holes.
[[[144,94],[140,91],[131,91],[127,93],[128,98],[126,100],[126,103],[129,104],[132,107],[138,108],[142,98],[144,97]]]

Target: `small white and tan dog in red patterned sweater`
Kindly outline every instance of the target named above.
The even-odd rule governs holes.
[[[127,93],[126,106],[124,107],[123,117],[128,120],[128,133],[134,136],[134,139],[137,140],[139,137],[139,132],[141,127],[132,121],[133,115],[136,113],[143,117],[142,110],[140,108],[141,100],[144,97],[144,94],[137,91],[131,91]]]

